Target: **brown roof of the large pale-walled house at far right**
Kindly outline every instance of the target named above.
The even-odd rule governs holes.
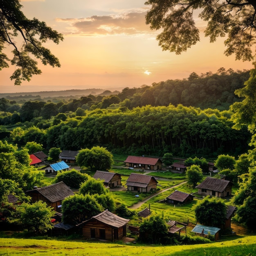
[[[233,183],[229,180],[206,177],[206,179],[195,188],[223,192],[229,185],[233,185]]]

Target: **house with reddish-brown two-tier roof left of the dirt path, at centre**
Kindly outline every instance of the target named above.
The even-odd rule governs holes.
[[[157,180],[153,176],[131,173],[126,181],[128,191],[146,192],[157,188]]]

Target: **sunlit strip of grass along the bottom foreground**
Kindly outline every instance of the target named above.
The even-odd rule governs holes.
[[[159,255],[159,256],[253,256],[256,255],[255,236],[236,236],[230,241],[200,245],[139,245],[130,243],[88,243],[38,239],[0,238],[0,255]]]

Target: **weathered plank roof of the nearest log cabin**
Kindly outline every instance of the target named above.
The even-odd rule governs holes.
[[[121,218],[108,210],[105,210],[102,213],[99,213],[98,215],[93,216],[92,218],[90,218],[89,220],[86,220],[85,222],[88,222],[92,219],[98,220],[102,223],[105,223],[105,224],[111,226],[111,227],[122,227],[122,226],[126,225],[127,222],[129,221],[128,219]],[[83,222],[83,223],[85,223],[85,222]]]

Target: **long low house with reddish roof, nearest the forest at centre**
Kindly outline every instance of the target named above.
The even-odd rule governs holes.
[[[162,170],[162,160],[154,157],[137,157],[129,155],[124,161],[127,167],[146,170]]]

